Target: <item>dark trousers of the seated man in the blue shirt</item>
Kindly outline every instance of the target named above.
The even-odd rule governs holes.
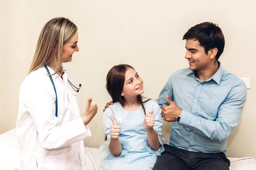
[[[163,145],[165,151],[159,156],[153,170],[229,170],[230,161],[223,152],[190,152]]]

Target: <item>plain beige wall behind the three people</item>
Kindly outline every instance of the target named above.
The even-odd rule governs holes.
[[[228,140],[228,156],[256,158],[256,12],[254,0],[1,0],[0,1],[0,133],[15,128],[20,83],[26,77],[41,28],[52,17],[68,17],[79,27],[80,51],[65,64],[76,85],[80,110],[88,97],[99,105],[90,122],[93,136],[85,145],[104,141],[102,109],[109,69],[132,65],[144,80],[145,94],[157,99],[169,76],[188,66],[183,34],[195,24],[212,21],[222,28],[226,46],[220,61],[238,77],[250,77],[251,88],[239,122]],[[169,138],[172,124],[164,123]]]

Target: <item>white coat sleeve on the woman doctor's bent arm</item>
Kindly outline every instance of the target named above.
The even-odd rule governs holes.
[[[20,88],[21,99],[32,116],[41,146],[55,149],[91,136],[89,127],[84,126],[81,118],[58,126],[59,120],[55,116],[55,94],[52,85],[47,85],[31,82],[22,84]]]

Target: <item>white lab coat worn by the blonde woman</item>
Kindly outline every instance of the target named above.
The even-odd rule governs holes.
[[[85,170],[83,139],[91,136],[90,129],[80,118],[76,91],[67,81],[70,77],[65,72],[62,78],[52,76],[58,117],[55,91],[44,66],[20,86],[16,130],[24,170]]]

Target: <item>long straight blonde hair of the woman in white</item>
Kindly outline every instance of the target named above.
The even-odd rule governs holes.
[[[56,17],[49,20],[38,38],[29,73],[52,61],[55,63],[54,74],[58,73],[62,69],[63,45],[76,34],[76,31],[76,25],[67,18]]]

